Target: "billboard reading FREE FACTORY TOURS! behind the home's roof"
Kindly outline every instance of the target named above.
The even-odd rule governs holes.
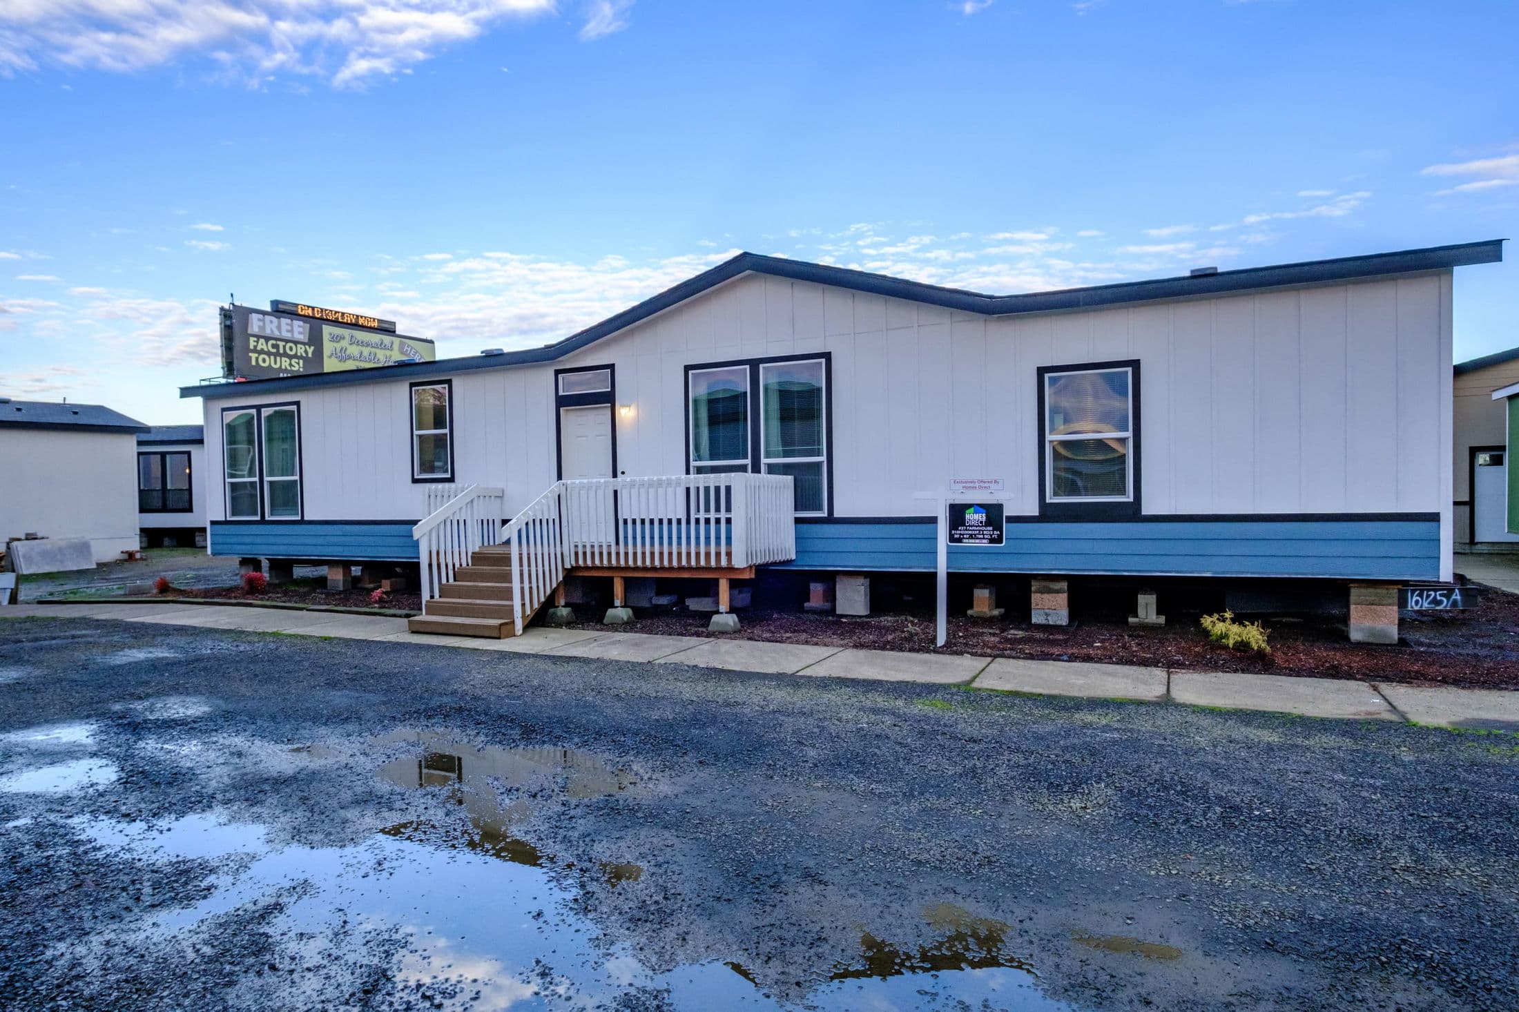
[[[395,333],[390,321],[343,313],[348,319],[363,319],[390,330],[351,322],[331,324],[322,313],[279,313],[248,305],[231,307],[231,362],[223,362],[229,375],[245,380],[267,380],[281,375],[342,372],[395,365],[409,359],[434,362],[436,345],[425,337]]]

